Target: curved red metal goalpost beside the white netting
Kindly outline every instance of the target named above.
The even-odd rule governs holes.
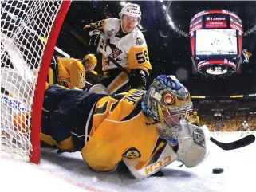
[[[40,162],[40,131],[41,131],[41,107],[44,99],[45,82],[49,70],[51,58],[53,57],[54,47],[57,42],[57,37],[61,31],[61,26],[64,22],[65,16],[69,10],[71,0],[64,0],[61,4],[60,10],[53,22],[53,27],[49,33],[49,38],[45,45],[45,51],[41,58],[40,70],[37,76],[37,84],[33,96],[33,106],[31,112],[31,133],[30,142],[32,144],[32,151],[30,151],[30,162]]]

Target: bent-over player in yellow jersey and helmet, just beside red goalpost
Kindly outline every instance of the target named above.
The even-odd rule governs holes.
[[[60,84],[66,88],[84,88],[85,72],[92,71],[96,63],[97,60],[93,54],[86,55],[82,61],[53,56],[47,82]]]

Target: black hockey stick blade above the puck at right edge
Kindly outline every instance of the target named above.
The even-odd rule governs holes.
[[[230,143],[222,143],[214,139],[213,137],[210,138],[212,143],[215,143],[218,147],[222,148],[223,150],[234,150],[241,147],[246,147],[247,145],[250,145],[251,143],[254,143],[255,136],[254,135],[247,135],[246,137],[242,139],[238,139],[234,142]]]

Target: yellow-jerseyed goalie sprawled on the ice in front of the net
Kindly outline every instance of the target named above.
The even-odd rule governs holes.
[[[41,140],[61,151],[81,151],[96,171],[114,171],[122,162],[145,178],[175,160],[195,167],[208,154],[209,131],[181,119],[191,106],[175,76],[158,76],[147,92],[112,96],[49,85]]]

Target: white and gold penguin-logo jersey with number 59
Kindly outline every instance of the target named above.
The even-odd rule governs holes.
[[[120,33],[121,21],[108,18],[92,23],[94,28],[104,31],[104,51],[114,58],[121,66],[128,69],[152,70],[148,57],[148,46],[143,33],[135,28],[131,33]],[[107,57],[102,60],[103,71],[116,69]]]

